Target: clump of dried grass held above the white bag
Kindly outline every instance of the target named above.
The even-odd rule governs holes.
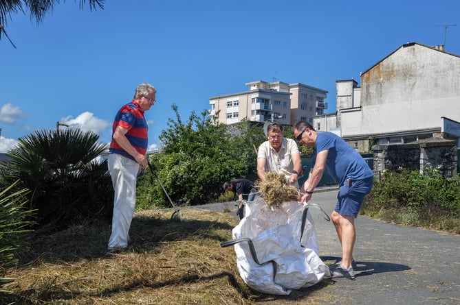
[[[286,181],[285,175],[269,171],[265,173],[265,181],[259,182],[259,191],[267,206],[281,206],[283,202],[298,200],[298,191],[295,186]]]

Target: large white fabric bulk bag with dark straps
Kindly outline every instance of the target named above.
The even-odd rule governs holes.
[[[245,205],[245,217],[233,228],[228,245],[234,244],[240,276],[252,289],[289,295],[292,289],[330,276],[329,267],[318,256],[308,209],[298,202],[270,208],[260,197]]]

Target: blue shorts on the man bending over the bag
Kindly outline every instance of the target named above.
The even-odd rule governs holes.
[[[351,180],[351,186],[347,183],[340,186],[334,210],[340,215],[358,217],[364,197],[371,193],[373,183],[374,178],[369,177],[363,180]]]

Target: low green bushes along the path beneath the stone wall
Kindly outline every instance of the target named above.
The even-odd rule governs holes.
[[[460,232],[460,175],[443,178],[436,169],[424,175],[408,169],[386,171],[366,197],[362,213]]]

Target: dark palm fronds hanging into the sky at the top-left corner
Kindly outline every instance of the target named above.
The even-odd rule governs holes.
[[[80,10],[83,9],[85,2],[86,0],[80,0]],[[91,10],[96,10],[97,7],[104,9],[105,0],[89,0],[88,2]],[[5,30],[8,17],[12,13],[25,13],[26,10],[29,10],[30,18],[40,24],[45,19],[45,14],[52,11],[56,4],[59,4],[59,0],[0,0],[0,40],[1,35],[4,34],[16,48]]]

